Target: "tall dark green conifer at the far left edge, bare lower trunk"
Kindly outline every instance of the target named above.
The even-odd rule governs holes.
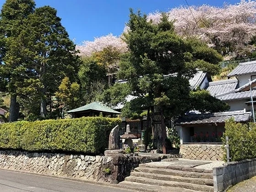
[[[21,32],[26,28],[24,22],[34,8],[33,0],[6,0],[0,13],[0,87],[1,91],[11,95],[10,122],[16,121],[19,116],[16,89],[24,71]]]

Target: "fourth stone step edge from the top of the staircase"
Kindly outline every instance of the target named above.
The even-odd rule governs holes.
[[[192,189],[195,191],[202,191],[202,192],[209,192],[209,191],[213,192],[212,186],[196,185],[192,183],[184,183],[184,182],[176,182],[176,181],[161,181],[161,180],[147,179],[144,177],[136,177],[136,176],[128,176],[125,178],[125,181],[143,183],[148,185],[157,185],[157,186],[163,186],[163,187],[178,187],[178,188]]]

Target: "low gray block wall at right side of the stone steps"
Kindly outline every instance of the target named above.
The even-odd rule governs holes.
[[[256,176],[256,159],[234,161],[213,168],[214,192],[226,191],[230,186]]]

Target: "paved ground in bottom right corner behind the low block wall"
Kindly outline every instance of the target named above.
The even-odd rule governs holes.
[[[256,192],[256,176],[236,184],[228,192]]]

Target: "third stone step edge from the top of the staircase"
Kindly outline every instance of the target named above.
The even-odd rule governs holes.
[[[184,183],[192,183],[196,185],[206,185],[206,186],[213,186],[213,179],[207,178],[191,178],[191,177],[183,177],[183,176],[166,176],[163,174],[151,174],[151,173],[144,173],[144,172],[131,172],[131,176],[138,176],[144,177],[148,179],[155,179],[161,181],[176,181],[176,182],[184,182]],[[154,177],[154,178],[153,178]]]

